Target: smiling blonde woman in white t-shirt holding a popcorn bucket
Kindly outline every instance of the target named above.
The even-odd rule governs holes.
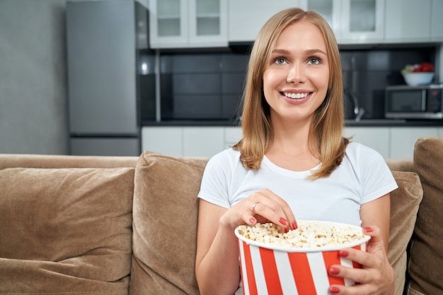
[[[397,187],[384,159],[343,138],[338,46],[318,13],[291,8],[258,35],[243,95],[243,138],[209,160],[199,193],[196,276],[202,294],[234,294],[241,281],[241,224],[297,219],[343,222],[372,236],[367,252],[346,249],[362,269],[333,265],[353,287],[331,294],[392,294],[386,257],[389,193]],[[297,219],[296,219],[297,217]]]

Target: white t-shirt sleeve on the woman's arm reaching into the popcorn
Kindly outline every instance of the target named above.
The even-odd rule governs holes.
[[[231,162],[226,152],[214,155],[205,167],[198,198],[221,207],[231,207],[229,203],[229,179],[231,179]]]

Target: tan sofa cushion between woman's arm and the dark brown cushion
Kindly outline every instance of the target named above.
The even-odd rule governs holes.
[[[423,191],[418,174],[409,171],[392,171],[392,174],[398,188],[391,193],[388,259],[395,270],[395,294],[401,295],[405,287],[406,248],[414,231]]]

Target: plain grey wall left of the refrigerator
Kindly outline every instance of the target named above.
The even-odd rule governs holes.
[[[0,153],[69,153],[66,2],[0,0]]]

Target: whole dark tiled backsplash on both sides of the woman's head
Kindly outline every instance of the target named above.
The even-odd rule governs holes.
[[[364,119],[384,117],[384,89],[404,84],[401,69],[435,63],[435,47],[342,49],[343,85],[364,109]],[[246,52],[161,54],[161,120],[226,120],[238,115],[248,64]],[[347,119],[355,100],[345,97]]]

